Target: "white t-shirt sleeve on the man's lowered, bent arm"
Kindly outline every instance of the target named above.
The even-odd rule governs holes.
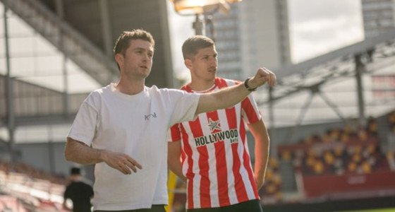
[[[95,136],[98,118],[97,110],[92,107],[92,95],[90,95],[78,110],[68,137],[90,146]]]

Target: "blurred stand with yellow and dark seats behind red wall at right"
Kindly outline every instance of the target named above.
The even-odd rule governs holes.
[[[394,114],[388,114],[389,124]],[[328,129],[300,143],[281,145],[278,151],[280,160],[293,164],[301,201],[395,193],[394,151],[383,148],[373,117],[365,128]]]

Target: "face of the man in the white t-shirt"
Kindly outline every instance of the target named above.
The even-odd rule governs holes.
[[[120,54],[120,56],[119,64],[126,76],[141,79],[150,75],[154,56],[154,48],[150,42],[140,39],[130,40],[125,55]]]

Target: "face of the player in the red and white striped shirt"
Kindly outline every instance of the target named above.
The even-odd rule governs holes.
[[[188,61],[189,60],[189,61]],[[215,46],[199,49],[195,57],[186,59],[193,79],[212,81],[217,74],[217,50]]]

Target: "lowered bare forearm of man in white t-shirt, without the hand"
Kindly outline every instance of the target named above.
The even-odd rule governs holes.
[[[64,151],[66,160],[80,164],[95,164],[104,162],[104,151],[90,148],[85,143],[67,138]]]

